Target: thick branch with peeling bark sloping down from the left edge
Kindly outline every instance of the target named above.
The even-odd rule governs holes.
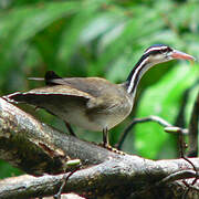
[[[63,172],[69,159],[103,163],[116,154],[38,122],[0,98],[0,158],[31,175]]]

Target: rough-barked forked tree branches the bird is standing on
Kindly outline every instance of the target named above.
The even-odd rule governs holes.
[[[191,185],[198,176],[185,159],[154,161],[80,140],[41,124],[2,98],[0,158],[34,175],[1,180],[0,198],[4,199],[56,193],[65,164],[76,158],[83,167],[69,178],[64,192],[76,192],[86,198],[181,198],[188,190],[182,179]],[[189,160],[199,170],[199,158]],[[187,198],[199,198],[198,189],[196,182],[186,193]]]

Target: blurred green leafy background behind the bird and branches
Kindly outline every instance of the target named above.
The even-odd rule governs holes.
[[[121,83],[156,43],[199,59],[198,0],[0,0],[0,9],[1,95],[42,86],[28,77],[41,77],[48,70]],[[151,69],[140,82],[132,115],[111,130],[112,145],[134,117],[157,115],[187,127],[198,77],[198,63],[172,61]],[[62,121],[44,111],[35,115],[66,132]],[[102,142],[102,133],[73,128],[82,139]],[[151,159],[178,156],[176,136],[153,123],[132,129],[123,150]],[[0,178],[21,174],[4,161],[0,170]]]

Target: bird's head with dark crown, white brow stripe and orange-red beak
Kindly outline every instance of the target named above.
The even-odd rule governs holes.
[[[168,62],[170,60],[189,60],[195,61],[195,57],[184,52],[177,51],[165,44],[155,44],[149,46],[144,55],[148,63],[157,64]]]

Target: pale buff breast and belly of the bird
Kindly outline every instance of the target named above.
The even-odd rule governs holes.
[[[63,121],[87,130],[102,132],[111,129],[123,122],[132,111],[132,103],[112,104],[107,108],[88,111],[86,106],[67,103],[62,107],[51,107],[51,111]]]

